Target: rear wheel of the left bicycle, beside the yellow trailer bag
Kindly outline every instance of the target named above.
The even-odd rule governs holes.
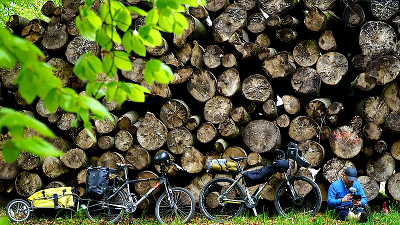
[[[123,205],[125,205],[125,195],[122,190],[116,192],[114,196],[108,199],[113,193],[113,190],[110,187],[107,187],[106,192],[104,194],[105,200],[88,200],[87,208],[86,208],[86,216],[89,219],[104,219],[104,221],[113,223],[117,221],[123,213]],[[121,205],[114,206],[110,204]]]

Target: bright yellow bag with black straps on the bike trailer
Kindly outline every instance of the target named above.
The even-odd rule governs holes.
[[[39,190],[28,197],[33,207],[72,208],[78,197],[75,188],[70,186],[54,187]]]

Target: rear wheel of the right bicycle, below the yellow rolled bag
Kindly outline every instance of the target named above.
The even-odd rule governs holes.
[[[215,222],[222,222],[232,219],[239,215],[244,207],[244,190],[235,183],[227,194],[229,199],[243,200],[243,202],[233,203],[223,199],[217,201],[224,188],[230,186],[235,180],[228,177],[218,177],[209,181],[200,191],[198,204],[204,216]],[[216,196],[219,194],[218,196]],[[210,200],[212,199],[212,200]]]

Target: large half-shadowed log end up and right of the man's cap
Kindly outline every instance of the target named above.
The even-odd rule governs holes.
[[[366,163],[366,173],[372,179],[380,182],[390,178],[396,163],[389,152],[383,152],[377,157],[371,157]]]

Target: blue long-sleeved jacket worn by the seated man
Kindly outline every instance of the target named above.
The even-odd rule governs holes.
[[[354,181],[352,187],[357,189],[356,194],[361,195],[361,206],[364,206],[366,203],[366,196],[364,194],[364,191],[362,190],[361,184],[358,181]],[[344,197],[349,193],[349,190],[347,187],[345,187],[343,181],[341,179],[338,179],[334,181],[328,189],[328,196],[327,196],[327,205],[329,208],[338,208],[342,206],[351,206],[352,201],[346,201],[344,203],[341,202],[341,198]]]

